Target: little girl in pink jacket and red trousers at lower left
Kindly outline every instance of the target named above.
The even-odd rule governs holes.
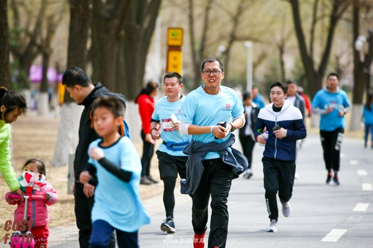
[[[30,200],[28,203],[27,219],[32,220],[31,233],[35,238],[36,248],[47,248],[48,245],[48,222],[49,211],[47,205],[57,203],[58,196],[56,190],[46,180],[46,166],[37,158],[31,158],[23,165],[23,173],[18,177],[21,189],[28,196],[45,196],[45,200]],[[23,200],[11,200],[6,194],[6,201],[10,205],[18,205],[15,210],[15,220],[23,220]]]

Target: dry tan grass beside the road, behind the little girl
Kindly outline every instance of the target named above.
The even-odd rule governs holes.
[[[56,118],[42,118],[37,116],[27,116],[19,118],[12,124],[13,142],[13,165],[16,174],[21,173],[21,167],[29,158],[39,158],[44,161],[47,167],[48,181],[59,196],[59,202],[48,207],[50,210],[49,227],[67,225],[75,221],[74,197],[67,194],[68,167],[52,167],[52,158],[55,152],[57,140],[57,130],[59,120]],[[142,144],[135,144],[139,154],[142,154]],[[151,174],[155,179],[159,179],[157,171],[157,159],[153,156]],[[162,193],[163,187],[152,187],[140,185],[140,194],[143,199],[151,198]],[[3,199],[9,191],[5,180],[0,177],[0,195]],[[15,206],[8,205],[5,200],[0,200],[0,240],[3,239],[4,224],[6,220],[13,219]],[[10,231],[9,231],[10,232]],[[1,243],[1,242],[0,242]]]

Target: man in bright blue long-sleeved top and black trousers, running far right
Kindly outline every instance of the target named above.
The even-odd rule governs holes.
[[[341,144],[345,132],[345,114],[350,110],[350,101],[339,88],[338,75],[327,76],[327,85],[316,92],[312,99],[312,112],[320,114],[320,136],[327,169],[327,184],[339,185],[338,172],[341,161]]]

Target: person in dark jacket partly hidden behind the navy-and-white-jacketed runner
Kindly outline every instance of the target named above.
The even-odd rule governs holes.
[[[250,92],[243,92],[242,101],[245,109],[244,114],[246,122],[245,125],[240,128],[238,134],[242,146],[242,152],[249,163],[243,177],[249,179],[251,176],[253,176],[253,173],[251,172],[251,163],[253,161],[253,149],[256,143],[254,130],[259,114],[259,107],[252,101]]]

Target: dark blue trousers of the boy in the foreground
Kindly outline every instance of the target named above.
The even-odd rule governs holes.
[[[105,220],[96,220],[93,223],[92,234],[90,235],[90,248],[107,248],[109,239],[113,234],[114,227],[112,227]],[[119,248],[138,248],[138,233],[128,233],[115,229],[117,234],[117,244]]]

